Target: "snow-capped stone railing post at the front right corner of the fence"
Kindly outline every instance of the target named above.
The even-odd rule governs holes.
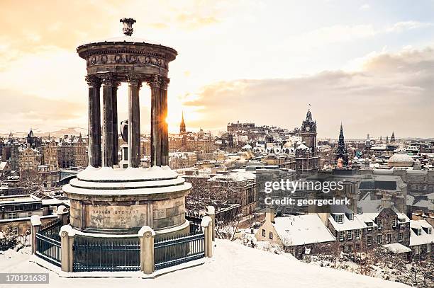
[[[140,270],[145,274],[154,272],[155,231],[150,226],[143,226],[138,231],[140,241]]]

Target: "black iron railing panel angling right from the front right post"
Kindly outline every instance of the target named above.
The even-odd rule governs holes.
[[[162,238],[154,244],[154,269],[159,270],[205,256],[204,234]]]

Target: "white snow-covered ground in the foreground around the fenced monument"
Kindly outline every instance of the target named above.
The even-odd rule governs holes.
[[[28,250],[27,250],[28,251]],[[0,272],[49,272],[50,285],[39,287],[408,287],[342,270],[301,263],[239,243],[217,240],[214,258],[208,263],[176,270],[152,279],[141,278],[65,278],[30,262],[30,255],[12,250],[0,255]],[[116,273],[113,272],[113,276]],[[23,285],[30,287],[33,285]],[[11,287],[1,286],[0,287]],[[13,287],[19,287],[14,284]]]

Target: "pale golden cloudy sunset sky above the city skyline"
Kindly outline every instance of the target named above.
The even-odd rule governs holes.
[[[1,1],[0,133],[87,127],[84,42],[122,34],[174,47],[169,130],[228,122],[318,137],[434,137],[434,1]],[[118,91],[126,119],[126,84]],[[141,90],[150,129],[150,91]]]

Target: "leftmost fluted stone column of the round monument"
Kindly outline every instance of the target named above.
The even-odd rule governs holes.
[[[99,88],[101,81],[94,75],[85,77],[89,85],[88,156],[89,166],[101,166],[101,109]]]

